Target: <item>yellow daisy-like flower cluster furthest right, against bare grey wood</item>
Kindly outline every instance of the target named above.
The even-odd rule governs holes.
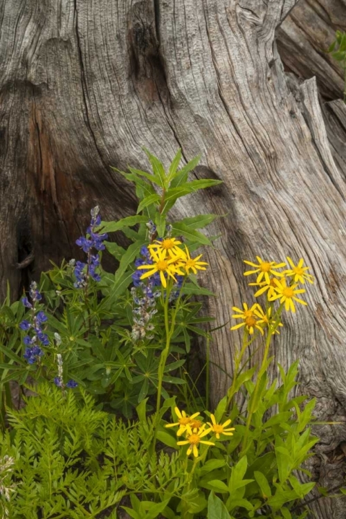
[[[304,265],[304,260],[300,259],[295,265],[291,257],[287,256],[287,262],[291,268],[287,269],[286,263],[276,263],[263,261],[259,256],[256,256],[257,264],[244,260],[244,263],[254,267],[254,270],[244,272],[244,275],[256,274],[257,279],[255,283],[249,283],[251,286],[259,286],[260,288],[255,293],[255,298],[266,293],[266,299],[269,303],[275,300],[280,300],[280,304],[284,305],[286,311],[295,312],[294,302],[307,305],[307,302],[298,298],[297,295],[304,293],[305,289],[297,288],[298,284],[304,284],[305,281],[313,283],[313,276],[308,274],[308,266]],[[286,267],[284,271],[277,271],[277,268]],[[246,303],[243,303],[244,309],[233,307],[233,311],[237,312],[232,317],[234,319],[242,319],[243,322],[231,327],[235,330],[242,326],[246,327],[248,334],[253,334],[255,330],[264,334],[265,327],[274,327],[273,333],[279,333],[277,327],[282,326],[282,322],[275,323],[273,318],[273,305],[266,304],[266,311],[264,311],[260,304],[255,303],[251,308]]]

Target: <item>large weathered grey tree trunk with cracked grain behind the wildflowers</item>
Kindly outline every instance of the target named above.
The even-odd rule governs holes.
[[[96,203],[104,219],[134,212],[131,186],[109,165],[145,168],[142,145],[165,163],[178,147],[185,160],[201,153],[196,176],[224,184],[190,196],[177,215],[228,214],[213,224],[221,237],[206,251],[202,281],[218,294],[209,312],[221,325],[251,297],[244,259],[305,257],[316,275],[309,308],[286,316],[275,354],[285,366],[300,359],[300,390],[318,397],[320,419],[345,422],[346,113],[327,104],[326,131],[315,80],[287,86],[275,29],[294,4],[0,1],[1,293],[8,279],[17,291],[49,258],[74,257]],[[338,8],[346,18],[343,0]],[[337,76],[321,83],[331,98],[343,85],[326,60]],[[286,62],[304,76],[304,62]],[[239,340],[226,326],[212,343],[212,362],[229,374]],[[228,379],[215,367],[212,381],[216,400]],[[346,426],[319,433],[314,475],[334,486],[345,471]],[[342,500],[311,508],[321,519],[345,517]]]

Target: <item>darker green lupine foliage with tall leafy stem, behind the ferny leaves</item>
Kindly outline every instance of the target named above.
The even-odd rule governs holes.
[[[122,232],[131,242],[126,250],[114,242],[105,243],[107,251],[118,262],[116,273],[102,271],[100,282],[89,277],[84,289],[74,286],[75,265],[71,262],[62,262],[61,266],[53,264],[50,271],[42,273],[38,289],[44,302],[37,303],[35,311],[44,311],[48,316],[44,331],[49,345],[43,347],[44,355],[37,363],[28,365],[24,360],[23,339],[28,332],[19,328],[23,319],[30,321],[32,311],[21,302],[10,304],[8,294],[0,310],[1,383],[6,390],[1,400],[3,420],[6,408],[12,406],[8,382],[17,381],[22,386],[31,379],[52,381],[57,376],[58,354],[62,356],[66,380],[73,379],[93,394],[104,409],[113,409],[125,417],[131,417],[134,407],[143,399],[152,397],[154,402],[158,385],[163,385],[163,397],[176,394],[184,398],[186,354],[190,351],[192,335],[206,335],[199,325],[208,322],[207,318],[197,317],[201,304],[191,298],[210,295],[210,291],[199,287],[195,277],[190,275],[190,282],[186,280],[181,297],[175,301],[169,302],[169,295],[165,298],[161,293],[154,307],[156,314],[145,328],[136,325],[135,316],[135,300],[143,295],[140,290],[130,291],[129,285],[136,271],[134,261],[140,257],[143,246],[157,237],[183,237],[184,244],[192,249],[211,244],[199,229],[210,224],[217,215],[185,218],[167,227],[167,213],[180,197],[219,181],[188,181],[188,173],[199,158],[179,170],[180,150],[167,172],[158,158],[147,150],[145,153],[152,172],[133,167],[129,167],[129,173],[120,172],[136,186],[140,214],[119,221],[102,221],[98,229],[102,233]],[[148,220],[156,224],[152,234]],[[165,365],[158,376],[158,352],[165,349],[167,338],[165,304],[168,304],[168,319],[172,321],[174,317],[174,326],[169,351],[165,352]],[[59,334],[58,340],[55,334]]]

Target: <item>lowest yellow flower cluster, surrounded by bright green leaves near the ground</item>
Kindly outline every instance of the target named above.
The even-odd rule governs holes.
[[[188,450],[186,454],[190,456],[193,453],[194,457],[198,456],[198,446],[199,444],[205,445],[215,445],[212,441],[202,439],[206,435],[213,434],[217,439],[220,438],[220,435],[232,436],[234,427],[228,428],[230,425],[230,419],[226,420],[224,424],[217,424],[214,415],[210,415],[210,419],[212,423],[207,422],[203,424],[201,419],[197,419],[199,417],[199,412],[195,412],[194,415],[188,416],[185,411],[180,411],[179,408],[174,408],[176,416],[178,417],[178,421],[176,424],[167,424],[165,427],[174,427],[178,426],[179,429],[176,432],[176,436],[180,437],[182,435],[185,436],[185,439],[181,441],[177,441],[177,445],[188,445]],[[207,429],[206,427],[209,426]]]

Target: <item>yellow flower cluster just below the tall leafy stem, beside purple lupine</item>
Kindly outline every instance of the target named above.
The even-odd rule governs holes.
[[[174,275],[189,275],[190,271],[197,274],[197,271],[205,271],[208,263],[199,261],[201,254],[192,258],[188,247],[185,245],[185,251],[179,247],[181,242],[175,238],[165,238],[163,240],[155,240],[154,243],[148,245],[148,250],[152,258],[152,264],[140,265],[137,268],[146,270],[141,280],[158,272],[161,283],[164,288],[167,286],[167,278]]]

